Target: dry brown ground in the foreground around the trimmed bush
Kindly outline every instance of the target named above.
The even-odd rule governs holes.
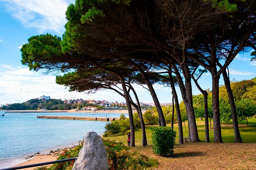
[[[158,160],[157,170],[256,169],[256,143],[186,143],[171,157],[153,154],[152,146],[133,149]]]

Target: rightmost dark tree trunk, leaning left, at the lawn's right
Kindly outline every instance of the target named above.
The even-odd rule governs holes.
[[[229,77],[226,73],[226,70],[223,71],[222,75],[223,75],[223,79],[224,79],[224,82],[225,82],[225,87],[226,87],[228,97],[229,97],[231,115],[232,115],[232,120],[233,120],[233,128],[234,128],[234,134],[235,134],[235,142],[236,143],[242,143],[242,138],[240,136],[238,120],[237,120],[236,104],[235,104],[234,96],[233,96],[232,89],[231,89],[231,86],[230,86]]]

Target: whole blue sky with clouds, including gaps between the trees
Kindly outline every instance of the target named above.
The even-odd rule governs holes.
[[[75,0],[0,0],[0,104],[21,103],[42,95],[62,100],[74,98],[125,101],[112,91],[99,91],[96,94],[69,92],[64,86],[55,83],[54,75],[30,71],[20,62],[20,48],[33,35],[51,33],[61,36],[66,23],[65,11]],[[256,76],[256,61],[250,61],[250,54],[239,54],[230,64],[230,78],[251,79]],[[204,74],[199,79],[203,89],[211,89],[211,76]],[[220,85],[223,84],[222,77]],[[171,102],[171,90],[155,85],[160,103]],[[149,92],[136,85],[139,99],[152,103]],[[177,91],[179,89],[177,88]],[[200,94],[193,84],[193,94]],[[180,92],[179,99],[181,101]]]

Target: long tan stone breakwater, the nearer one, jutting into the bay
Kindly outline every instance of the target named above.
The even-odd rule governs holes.
[[[119,118],[95,118],[95,117],[75,117],[75,116],[38,116],[42,119],[68,119],[68,120],[84,120],[84,121],[114,121]]]

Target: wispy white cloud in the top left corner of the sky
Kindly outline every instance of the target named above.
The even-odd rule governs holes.
[[[0,0],[5,9],[25,27],[37,28],[40,33],[51,30],[63,33],[66,0]]]

